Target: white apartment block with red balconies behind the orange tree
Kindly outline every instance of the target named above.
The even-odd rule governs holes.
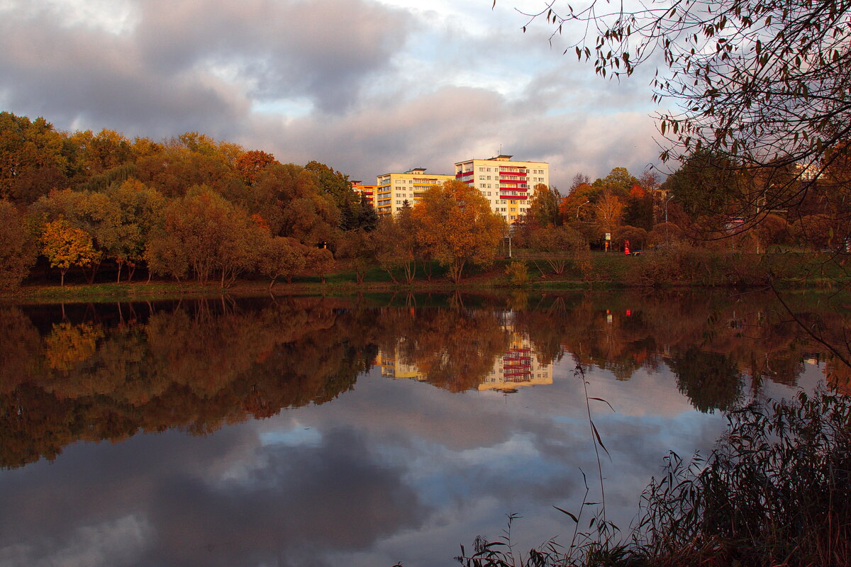
[[[550,184],[545,162],[515,162],[513,156],[455,163],[455,179],[473,185],[490,202],[490,208],[513,223],[528,210],[534,186]]]

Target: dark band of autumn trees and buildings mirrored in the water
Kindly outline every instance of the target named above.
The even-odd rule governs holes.
[[[840,332],[842,310],[801,302],[802,317]],[[794,384],[805,359],[827,360],[825,373],[848,388],[848,370],[799,326],[773,315],[768,296],[731,302],[596,292],[395,303],[288,298],[0,308],[0,465],[53,459],[77,440],[168,428],[207,434],[323,404],[376,363],[386,374],[451,392],[545,383],[564,356],[620,380],[667,366],[700,411],[742,402],[745,383],[751,395],[765,380]]]

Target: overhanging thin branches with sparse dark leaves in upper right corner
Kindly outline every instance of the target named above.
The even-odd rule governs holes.
[[[590,0],[566,10],[532,17],[546,14],[558,31],[573,30],[577,20],[587,26],[589,33],[570,47],[603,77],[620,79],[637,65],[664,62],[654,99],[678,108],[658,116],[667,137],[663,160],[684,162],[708,151],[765,181],[741,196],[751,206],[745,228],[765,210],[800,203],[820,173],[848,153],[851,4],[665,1],[627,12]],[[791,179],[784,173],[790,167],[797,167]]]

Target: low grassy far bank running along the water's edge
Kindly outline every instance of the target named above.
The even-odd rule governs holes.
[[[525,265],[528,281],[517,286],[505,275],[511,263]],[[714,263],[714,264],[713,264]],[[660,264],[664,272],[659,273]],[[680,265],[686,264],[686,265]],[[774,254],[714,254],[703,258],[660,258],[659,255],[644,254],[626,256],[619,253],[597,252],[591,255],[591,270],[583,273],[568,264],[562,274],[552,273],[547,258],[535,258],[521,254],[520,258],[498,258],[488,269],[472,266],[465,278],[455,284],[446,277],[446,269],[437,262],[429,264],[431,277],[420,266],[416,279],[403,282],[402,270],[392,277],[378,267],[366,271],[363,282],[358,283],[355,271],[340,263],[334,273],[325,275],[301,275],[290,283],[277,281],[269,287],[269,281],[261,278],[239,280],[222,290],[216,283],[201,286],[196,281],[133,281],[98,282],[86,284],[73,281],[58,286],[47,281],[31,281],[11,292],[0,293],[4,301],[32,303],[55,301],[129,301],[169,298],[214,298],[226,293],[232,297],[254,297],[259,295],[291,294],[351,294],[351,293],[396,293],[516,290],[570,291],[584,289],[618,289],[626,287],[661,286],[670,288],[723,288],[765,287],[766,275],[774,282],[791,289],[831,288],[847,281],[842,266],[825,263],[825,255],[813,253]],[[643,277],[643,273],[647,276]],[[105,274],[105,276],[108,275]],[[394,281],[395,280],[395,281]]]

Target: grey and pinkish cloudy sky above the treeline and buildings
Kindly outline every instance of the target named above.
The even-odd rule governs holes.
[[[500,151],[551,183],[654,162],[649,76],[551,47],[534,0],[0,0],[0,110],[63,130],[187,131],[375,175]]]

